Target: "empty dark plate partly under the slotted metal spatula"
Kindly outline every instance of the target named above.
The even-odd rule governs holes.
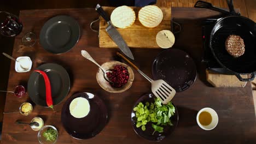
[[[196,65],[188,53],[167,49],[159,53],[152,65],[154,80],[162,79],[176,92],[182,92],[196,80]]]

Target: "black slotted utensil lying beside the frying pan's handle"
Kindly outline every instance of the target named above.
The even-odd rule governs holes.
[[[225,14],[225,15],[230,14],[229,11],[214,7],[211,3],[204,2],[204,1],[197,1],[194,5],[194,8],[205,8],[205,9],[211,9],[211,10],[214,10],[214,11],[218,11],[219,13],[222,13],[222,14]]]

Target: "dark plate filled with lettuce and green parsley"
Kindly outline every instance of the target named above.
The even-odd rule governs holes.
[[[131,121],[137,135],[161,141],[177,127],[178,110],[172,102],[163,105],[153,94],[144,94],[132,107]]]

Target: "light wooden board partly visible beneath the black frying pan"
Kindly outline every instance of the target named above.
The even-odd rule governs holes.
[[[249,77],[241,75],[243,78]],[[206,80],[214,87],[245,87],[247,82],[240,81],[235,75],[222,75],[206,70]]]

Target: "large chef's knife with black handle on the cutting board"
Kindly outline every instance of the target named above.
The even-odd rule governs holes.
[[[130,48],[127,46],[127,44],[125,43],[124,39],[122,38],[120,33],[117,31],[117,29],[113,26],[112,22],[109,19],[109,16],[101,8],[101,5],[97,4],[95,9],[98,12],[98,14],[100,14],[103,17],[103,19],[107,21],[108,26],[106,28],[106,31],[109,34],[109,36],[112,38],[112,40],[115,42],[115,44],[118,45],[119,49],[122,52],[124,52],[126,56],[130,57],[131,59],[134,59]]]

